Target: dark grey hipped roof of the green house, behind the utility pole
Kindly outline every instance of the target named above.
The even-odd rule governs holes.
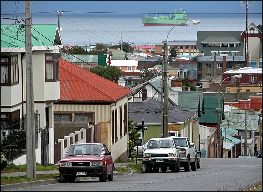
[[[142,118],[147,124],[161,125],[161,101],[157,99],[146,99],[142,102],[129,102],[129,118],[140,124]],[[168,105],[168,123],[183,123],[195,114],[173,105]]]

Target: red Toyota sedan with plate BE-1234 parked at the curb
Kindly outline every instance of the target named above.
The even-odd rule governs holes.
[[[75,182],[76,177],[99,177],[113,180],[114,161],[105,144],[77,143],[68,147],[59,163],[59,182]]]

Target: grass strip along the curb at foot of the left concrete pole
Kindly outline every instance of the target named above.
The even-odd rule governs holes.
[[[47,179],[59,179],[59,173],[55,174],[37,174],[36,178],[26,178],[26,175],[18,177],[1,177],[1,185],[13,184],[13,183],[24,183],[30,181],[47,180]]]

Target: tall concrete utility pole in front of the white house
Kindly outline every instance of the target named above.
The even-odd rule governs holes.
[[[33,90],[33,64],[31,39],[31,1],[25,1],[26,45],[26,177],[36,178],[35,115]]]

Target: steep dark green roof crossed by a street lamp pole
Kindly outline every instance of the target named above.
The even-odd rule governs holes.
[[[199,92],[199,91],[198,91]],[[199,123],[213,123],[217,124],[217,97],[204,97],[205,113],[201,117],[198,117]],[[220,108],[223,108],[223,96],[220,96]],[[222,122],[221,110],[220,119]]]

